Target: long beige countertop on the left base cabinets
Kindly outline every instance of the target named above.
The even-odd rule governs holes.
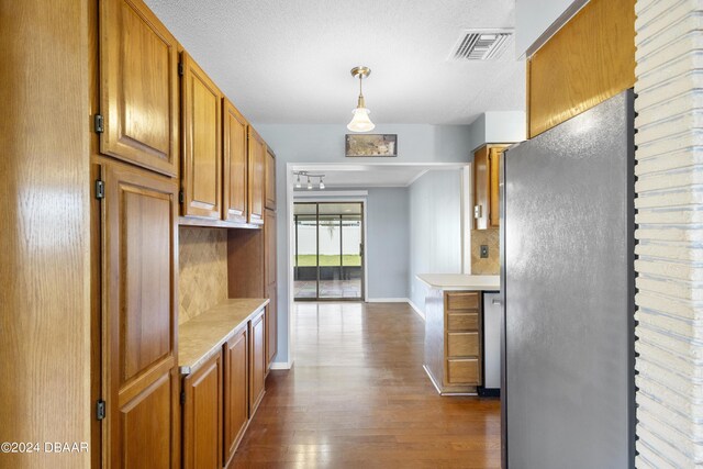
[[[266,298],[224,300],[178,326],[178,366],[188,375],[214,356],[232,333],[268,304]]]

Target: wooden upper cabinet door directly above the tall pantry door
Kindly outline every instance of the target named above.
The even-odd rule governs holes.
[[[142,0],[101,0],[100,152],[178,174],[178,42]]]

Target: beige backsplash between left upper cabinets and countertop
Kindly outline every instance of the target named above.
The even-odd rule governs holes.
[[[178,324],[227,298],[227,231],[180,226]]]

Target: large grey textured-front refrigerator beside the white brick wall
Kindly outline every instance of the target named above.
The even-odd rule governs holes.
[[[633,101],[504,154],[504,467],[634,467]]]

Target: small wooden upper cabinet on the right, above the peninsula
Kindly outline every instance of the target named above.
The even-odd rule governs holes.
[[[473,154],[473,230],[500,226],[500,168],[507,145],[484,145]]]

